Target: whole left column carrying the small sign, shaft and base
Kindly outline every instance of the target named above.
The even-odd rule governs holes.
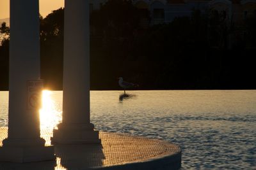
[[[9,122],[0,161],[55,159],[40,138],[40,85],[38,0],[10,0]]]

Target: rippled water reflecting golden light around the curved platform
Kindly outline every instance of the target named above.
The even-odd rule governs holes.
[[[96,129],[176,143],[182,147],[182,169],[256,169],[256,90],[130,91],[124,98],[120,94],[91,92]],[[62,92],[52,92],[51,99],[57,123]],[[0,92],[1,126],[8,124],[7,111],[8,92]]]

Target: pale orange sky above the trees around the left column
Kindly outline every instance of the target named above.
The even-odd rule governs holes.
[[[22,0],[20,0],[22,1]],[[64,0],[39,0],[40,14],[46,17],[51,11],[64,6]],[[10,0],[0,0],[0,19],[9,18]]]

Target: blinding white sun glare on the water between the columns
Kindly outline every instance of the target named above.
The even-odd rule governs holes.
[[[42,91],[42,108],[40,109],[40,127],[54,128],[61,122],[61,111],[56,109],[56,104],[51,98],[50,90]]]

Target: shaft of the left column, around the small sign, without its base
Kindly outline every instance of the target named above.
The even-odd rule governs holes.
[[[11,0],[10,8],[8,138],[36,138],[39,114],[28,110],[27,81],[40,78],[38,1]]]

